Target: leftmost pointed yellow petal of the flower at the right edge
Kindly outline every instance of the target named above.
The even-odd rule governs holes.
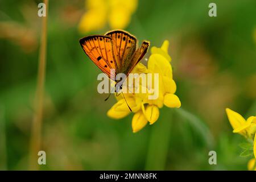
[[[245,118],[243,118],[242,115],[238,114],[237,112],[229,108],[226,108],[226,114],[228,115],[230,125],[233,127],[234,130],[245,125],[246,123]]]

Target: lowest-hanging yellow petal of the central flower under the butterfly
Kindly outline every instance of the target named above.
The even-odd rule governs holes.
[[[134,114],[133,120],[131,121],[131,127],[133,129],[133,133],[138,132],[143,129],[144,126],[147,125],[147,119],[144,116],[143,112],[140,110]]]

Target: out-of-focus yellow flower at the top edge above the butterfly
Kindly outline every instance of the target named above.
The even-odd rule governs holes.
[[[79,31],[100,30],[107,23],[110,29],[125,29],[137,6],[138,0],[86,0],[86,12],[80,19]]]

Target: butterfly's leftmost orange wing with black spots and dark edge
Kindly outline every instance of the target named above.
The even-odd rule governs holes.
[[[80,44],[93,63],[108,75],[109,78],[112,78],[110,76],[110,69],[116,69],[112,38],[102,35],[87,36],[80,39]],[[114,73],[112,72],[111,74]]]

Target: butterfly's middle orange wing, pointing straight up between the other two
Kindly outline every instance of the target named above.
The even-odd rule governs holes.
[[[113,54],[116,61],[116,72],[127,75],[127,64],[130,63],[136,50],[137,39],[126,31],[114,30],[107,32],[113,42]]]

